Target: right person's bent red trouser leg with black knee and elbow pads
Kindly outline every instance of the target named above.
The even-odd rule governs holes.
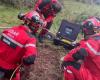
[[[97,80],[90,70],[84,66],[85,57],[88,56],[84,48],[78,49],[73,54],[68,53],[68,56],[69,54],[72,57],[67,57],[62,63],[65,80]]]

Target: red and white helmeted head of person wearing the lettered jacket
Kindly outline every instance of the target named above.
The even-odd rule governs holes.
[[[31,31],[33,31],[35,27],[43,25],[43,19],[40,18],[39,13],[36,11],[30,11],[24,14],[23,17],[20,17],[20,20],[23,20],[24,24],[28,25]]]

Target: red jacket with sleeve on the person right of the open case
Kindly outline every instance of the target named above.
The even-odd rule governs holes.
[[[64,58],[64,61],[73,61],[72,55],[80,48],[85,48],[88,56],[84,61],[85,67],[97,80],[100,80],[100,34],[91,36],[88,40],[82,40],[80,46],[71,50]]]

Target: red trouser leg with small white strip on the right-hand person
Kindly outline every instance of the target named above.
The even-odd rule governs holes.
[[[66,67],[64,70],[65,80],[97,80],[84,65],[81,65],[79,70],[75,69],[73,66]]]

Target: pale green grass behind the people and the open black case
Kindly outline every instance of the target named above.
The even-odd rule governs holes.
[[[63,9],[61,13],[57,15],[54,20],[54,24],[51,28],[52,32],[56,32],[62,19],[69,21],[80,20],[80,15],[100,15],[100,6],[87,5],[79,2],[73,2],[72,0],[63,0]],[[5,7],[0,5],[0,26],[12,26],[17,25],[20,21],[17,19],[17,14],[20,10],[11,7]],[[25,10],[24,10],[25,11]]]

